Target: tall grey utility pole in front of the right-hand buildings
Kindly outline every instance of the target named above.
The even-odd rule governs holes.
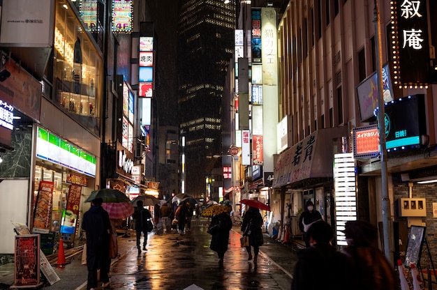
[[[379,144],[380,144],[380,160],[381,160],[381,180],[382,180],[382,209],[383,209],[383,233],[384,233],[384,254],[390,261],[390,265],[394,265],[393,262],[393,235],[392,235],[392,214],[390,211],[390,198],[388,197],[388,184],[387,184],[387,148],[385,148],[385,109],[383,98],[383,52],[381,49],[381,26],[380,15],[378,8],[378,0],[375,0],[374,22],[375,22],[375,51],[376,67],[378,71],[378,130],[379,130]]]

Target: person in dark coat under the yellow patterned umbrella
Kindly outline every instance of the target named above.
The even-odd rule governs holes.
[[[217,252],[219,264],[223,264],[225,252],[228,250],[230,229],[232,229],[232,220],[229,213],[220,213],[212,217],[208,228],[208,233],[212,234],[209,248]]]

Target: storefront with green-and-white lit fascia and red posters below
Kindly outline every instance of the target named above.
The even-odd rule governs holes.
[[[57,234],[73,244],[80,234],[85,197],[95,188],[96,156],[50,130],[36,127],[32,231],[41,234],[41,249],[53,251]]]

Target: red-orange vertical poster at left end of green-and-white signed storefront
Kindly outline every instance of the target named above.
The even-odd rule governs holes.
[[[40,181],[34,211],[34,232],[48,234],[52,216],[52,181]]]

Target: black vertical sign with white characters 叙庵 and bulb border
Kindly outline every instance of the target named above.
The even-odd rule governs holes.
[[[397,49],[394,49],[394,65],[399,57],[401,86],[423,85],[429,82],[429,38],[427,1],[397,1]],[[392,22],[393,23],[393,22]],[[396,22],[394,22],[396,23]],[[396,47],[396,45],[395,45]],[[399,56],[397,55],[399,50]],[[411,69],[414,68],[414,69]]]

